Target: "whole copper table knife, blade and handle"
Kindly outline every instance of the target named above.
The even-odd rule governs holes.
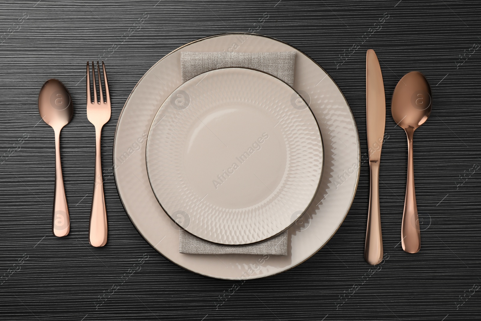
[[[374,265],[382,260],[383,255],[379,206],[379,167],[386,122],[386,100],[381,67],[378,57],[372,49],[369,49],[366,54],[366,122],[371,183],[364,256],[367,263]]]

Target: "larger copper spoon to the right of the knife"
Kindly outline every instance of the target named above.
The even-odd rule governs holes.
[[[403,250],[417,253],[421,248],[418,207],[414,191],[413,134],[431,113],[431,88],[428,80],[418,71],[412,71],[399,80],[392,94],[391,113],[397,125],[407,135],[407,183],[404,201],[401,243]]]

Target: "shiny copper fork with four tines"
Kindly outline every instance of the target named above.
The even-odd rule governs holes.
[[[95,126],[95,179],[92,197],[92,209],[90,210],[89,243],[95,247],[101,247],[107,243],[107,210],[105,209],[105,197],[103,195],[102,166],[100,157],[100,137],[102,127],[110,119],[111,106],[109,84],[105,64],[102,61],[103,80],[105,82],[105,98],[103,101],[102,80],[100,77],[99,62],[97,62],[97,74],[99,77],[100,101],[97,100],[97,87],[95,85],[95,66],[92,61],[93,102],[90,96],[89,62],[87,62],[87,118]]]

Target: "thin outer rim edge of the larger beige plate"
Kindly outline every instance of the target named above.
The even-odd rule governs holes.
[[[356,142],[357,142],[357,147],[358,147],[358,163],[357,163],[357,175],[356,175],[356,178],[355,178],[355,185],[354,185],[354,193],[353,193],[353,196],[350,200],[350,204],[349,206],[347,207],[347,211],[346,213],[344,214],[344,216],[342,217],[342,220],[340,222],[340,224],[338,225],[338,227],[336,228],[335,231],[332,232],[332,234],[329,236],[329,238],[327,239],[327,241],[322,244],[314,253],[312,253],[310,256],[306,257],[304,260],[301,260],[299,263],[285,269],[285,270],[281,270],[281,271],[278,271],[276,273],[272,273],[272,274],[268,274],[268,275],[255,275],[255,276],[252,276],[250,278],[248,278],[249,280],[251,279],[262,279],[262,278],[267,278],[267,277],[271,277],[271,276],[274,276],[274,275],[278,275],[280,273],[283,273],[285,271],[288,271],[288,270],[291,270],[297,266],[299,266],[300,264],[304,263],[305,261],[307,261],[309,258],[313,257],[317,252],[319,252],[320,249],[322,249],[326,244],[329,243],[330,239],[336,234],[336,232],[339,230],[339,228],[341,227],[342,223],[344,222],[344,219],[346,218],[347,214],[349,213],[349,211],[351,210],[351,207],[353,205],[353,202],[354,202],[354,197],[357,193],[357,187],[358,187],[358,184],[359,184],[359,177],[360,177],[360,173],[361,173],[361,149],[360,149],[360,141],[359,141],[359,134],[358,134],[358,130],[357,130],[357,124],[355,122],[355,118],[354,118],[354,114],[352,112],[352,109],[351,109],[351,106],[349,105],[349,102],[347,101],[346,97],[344,96],[344,93],[342,92],[341,88],[338,86],[338,84],[334,81],[334,79],[332,79],[332,77],[329,75],[329,73],[320,65],[318,64],[314,59],[311,58],[311,56],[309,56],[308,54],[306,54],[304,51],[290,45],[289,43],[285,42],[285,41],[282,41],[282,40],[279,40],[279,39],[276,39],[276,38],[273,38],[273,37],[269,37],[269,36],[266,36],[266,35],[261,35],[261,34],[256,34],[256,33],[250,33],[250,32],[228,32],[228,33],[221,33],[221,34],[215,34],[215,35],[212,35],[212,36],[209,36],[209,37],[204,37],[204,38],[201,38],[201,39],[196,39],[194,41],[191,41],[189,43],[186,43],[180,47],[177,47],[176,49],[170,51],[169,53],[165,54],[159,61],[157,61],[155,64],[153,64],[145,73],[142,77],[140,77],[139,81],[137,82],[137,84],[134,86],[134,88],[132,89],[132,91],[130,92],[130,94],[128,95],[127,99],[126,99],[126,102],[124,103],[124,106],[122,107],[122,110],[120,111],[120,114],[118,116],[118,119],[117,119],[117,125],[115,126],[115,132],[114,132],[114,146],[113,146],[113,153],[112,153],[112,162],[113,164],[115,164],[115,140],[116,140],[116,136],[117,136],[117,127],[119,125],[119,121],[120,121],[120,117],[122,116],[122,113],[124,111],[124,108],[128,102],[128,100],[130,99],[130,96],[132,95],[132,93],[134,92],[134,90],[137,88],[137,86],[139,86],[139,83],[140,81],[145,77],[145,75],[152,70],[152,68],[154,66],[156,66],[157,64],[159,64],[162,60],[165,59],[165,57],[167,57],[168,55],[172,54],[173,52],[175,51],[178,51],[190,44],[193,44],[193,43],[196,43],[196,42],[199,42],[199,41],[203,41],[205,39],[211,39],[211,38],[215,38],[215,37],[221,37],[221,36],[228,36],[228,35],[252,35],[252,36],[257,36],[257,37],[263,37],[263,38],[267,38],[267,39],[272,39],[272,40],[275,40],[275,41],[278,41],[280,43],[283,43],[285,45],[288,45],[290,46],[291,48],[294,48],[295,50],[301,52],[305,57],[307,57],[310,61],[312,61],[313,63],[315,63],[320,69],[322,69],[322,71],[324,71],[326,73],[326,76],[329,77],[332,81],[332,83],[336,86],[336,88],[339,90],[339,92],[341,93],[342,95],[342,98],[344,99],[344,102],[346,103],[347,107],[348,107],[348,110],[349,110],[349,113],[350,115],[352,116],[353,118],[353,124],[354,124],[354,129],[355,129],[355,133],[356,133]],[[321,136],[322,136],[322,133],[321,133]],[[323,151],[324,151],[324,148],[323,148]],[[323,161],[325,161],[323,159]],[[322,180],[322,178],[321,178]],[[115,181],[115,188],[117,189],[117,193],[118,193],[118,183],[117,183],[117,174],[116,174],[116,171],[114,170],[114,181]],[[182,268],[183,270],[187,270],[187,271],[190,271],[192,273],[195,273],[195,274],[199,274],[199,275],[203,275],[205,277],[209,277],[209,278],[215,278],[215,279],[223,279],[223,280],[234,280],[232,278],[226,278],[226,277],[216,277],[216,276],[212,276],[212,275],[207,275],[207,274],[202,274],[202,273],[199,273],[199,272],[196,272],[196,271],[193,271],[193,270],[190,270],[180,264],[177,264],[176,262],[174,262],[173,260],[171,260],[170,258],[164,256],[160,251],[158,251],[152,244],[150,244],[146,237],[142,234],[142,232],[139,231],[139,229],[137,228],[137,226],[134,224],[134,222],[132,221],[132,218],[130,218],[130,216],[128,215],[128,212],[127,212],[127,209],[125,207],[125,204],[124,204],[124,201],[122,199],[122,197],[120,196],[120,193],[119,193],[119,198],[120,198],[120,202],[122,203],[122,207],[124,208],[124,211],[126,212],[127,214],[127,218],[130,220],[130,223],[132,224],[132,226],[137,230],[137,232],[140,234],[140,236],[142,236],[142,238],[144,239],[144,241],[147,242],[147,244],[149,244],[150,247],[152,247],[152,249],[154,251],[156,251],[157,253],[159,253],[160,255],[162,255],[162,257],[165,257],[168,261],[172,262],[173,264],[175,264],[176,266]],[[235,279],[237,280],[237,279]]]

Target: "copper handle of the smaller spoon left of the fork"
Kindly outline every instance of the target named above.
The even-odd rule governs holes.
[[[52,232],[62,237],[70,231],[67,198],[63,188],[62,164],[60,162],[60,131],[55,128],[55,192],[53,197]]]

